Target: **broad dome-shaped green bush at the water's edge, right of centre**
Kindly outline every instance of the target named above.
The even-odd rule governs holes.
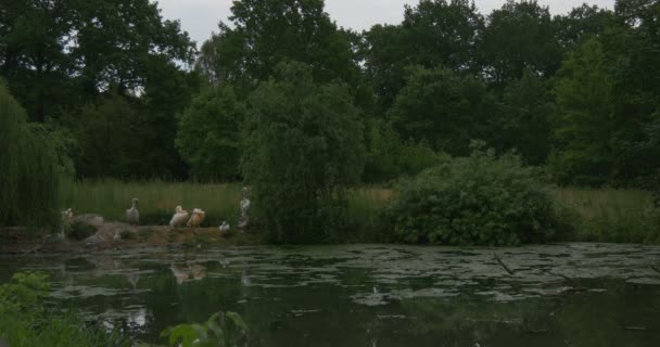
[[[518,245],[553,239],[551,192],[519,156],[475,149],[402,183],[386,214],[404,243]]]

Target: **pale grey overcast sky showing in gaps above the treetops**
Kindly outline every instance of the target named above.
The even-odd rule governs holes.
[[[180,20],[183,30],[198,41],[198,46],[217,31],[218,22],[227,22],[231,0],[157,0],[162,14],[168,20]],[[339,26],[358,31],[375,24],[397,24],[403,20],[404,4],[416,4],[418,0],[326,0],[326,12]],[[506,0],[474,0],[482,13],[490,13]],[[553,14],[562,14],[582,4],[597,4],[612,9],[614,0],[538,0],[550,7]]]

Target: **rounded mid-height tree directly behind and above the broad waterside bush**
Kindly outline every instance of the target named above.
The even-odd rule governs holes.
[[[410,69],[388,117],[402,139],[426,141],[436,151],[466,155],[472,139],[484,139],[494,107],[483,81],[449,69]]]

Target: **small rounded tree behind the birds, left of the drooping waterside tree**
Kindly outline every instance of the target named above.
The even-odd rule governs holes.
[[[176,146],[198,180],[234,180],[244,107],[230,87],[202,92],[179,117]]]

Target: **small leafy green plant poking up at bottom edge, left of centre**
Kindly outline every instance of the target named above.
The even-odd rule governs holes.
[[[248,345],[248,325],[236,312],[217,312],[202,324],[179,324],[161,333],[169,346],[229,347]]]

